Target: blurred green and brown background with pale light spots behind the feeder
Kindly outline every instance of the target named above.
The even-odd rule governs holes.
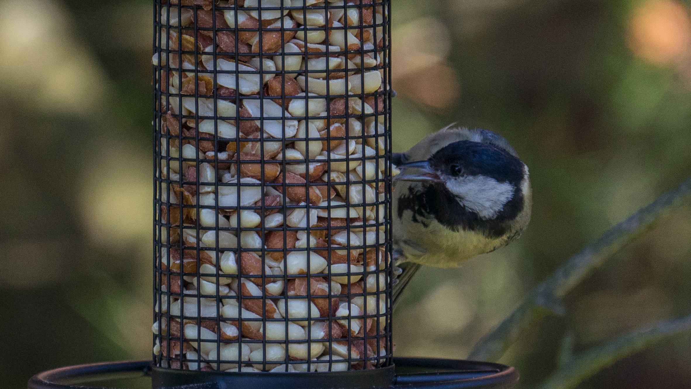
[[[691,174],[691,22],[675,0],[394,0],[395,151],[451,122],[531,169],[517,243],[422,269],[398,356],[464,358],[532,287]],[[151,357],[151,1],[0,0],[0,388]],[[533,388],[576,352],[691,312],[691,206],[589,276],[501,359]],[[691,334],[578,388],[691,388]]]

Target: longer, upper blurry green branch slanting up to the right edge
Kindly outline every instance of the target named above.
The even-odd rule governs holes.
[[[496,361],[532,323],[548,314],[564,314],[561,299],[570,290],[627,243],[647,231],[656,220],[669,214],[688,198],[691,198],[691,178],[687,178],[676,190],[663,194],[609,229],[529,292],[523,303],[507,319],[480,339],[468,359]]]

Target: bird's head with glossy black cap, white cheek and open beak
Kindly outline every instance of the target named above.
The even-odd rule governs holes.
[[[428,160],[401,164],[397,180],[443,186],[484,220],[496,218],[514,196],[528,169],[514,155],[491,143],[462,140],[444,146]]]

